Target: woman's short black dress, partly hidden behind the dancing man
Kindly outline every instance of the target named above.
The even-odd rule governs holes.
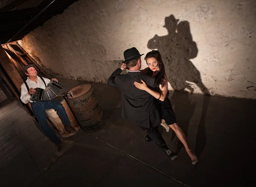
[[[153,71],[151,69],[148,70],[147,75],[152,76],[153,75]],[[158,73],[155,78],[157,79],[157,77],[160,74]],[[163,119],[166,121],[166,123],[168,125],[172,125],[174,123],[176,123],[176,118],[175,118],[175,113],[172,109],[172,105],[170,102],[170,99],[168,98],[169,96],[169,91],[166,94],[166,98],[164,99],[164,101],[159,101],[159,107],[160,107],[160,111],[162,113]]]

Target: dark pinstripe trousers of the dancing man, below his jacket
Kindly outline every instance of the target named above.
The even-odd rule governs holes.
[[[157,127],[140,127],[142,130],[147,130],[147,136],[150,137],[160,148],[168,148],[163,136],[160,134]]]

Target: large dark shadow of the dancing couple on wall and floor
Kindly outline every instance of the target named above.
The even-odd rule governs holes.
[[[194,91],[192,84],[188,82],[193,82],[200,88],[202,93],[207,95],[204,96],[200,122],[196,124],[200,127],[198,127],[196,134],[195,153],[200,155],[206,143],[205,119],[210,94],[201,80],[200,72],[190,61],[190,59],[197,56],[198,48],[196,43],[192,40],[188,21],[179,22],[179,20],[175,19],[174,15],[170,15],[165,18],[165,25],[163,27],[168,30],[168,35],[157,36],[156,34],[148,41],[147,46],[151,50],[158,50],[162,55],[166,68],[166,76],[170,85],[175,90],[170,100],[172,105],[175,106],[175,113],[179,114],[178,118],[181,119],[180,122],[185,124],[180,124],[180,126],[183,128],[186,135],[188,133],[190,119],[195,110],[195,104],[191,103],[189,99],[190,93],[185,90],[188,89],[191,93]],[[177,91],[184,92],[181,98],[183,106],[177,103],[180,100],[180,94],[177,94]],[[186,108],[186,111],[184,111],[184,108]],[[172,135],[174,134],[173,132]],[[183,144],[178,142],[176,152],[180,152],[182,147]]]

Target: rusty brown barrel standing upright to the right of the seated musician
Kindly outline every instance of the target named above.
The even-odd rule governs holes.
[[[66,98],[71,111],[84,132],[92,133],[104,125],[104,114],[90,84],[80,85],[70,90],[72,98]],[[70,92],[68,91],[68,92]]]

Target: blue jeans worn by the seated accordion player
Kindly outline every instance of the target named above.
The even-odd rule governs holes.
[[[53,143],[58,143],[59,141],[58,136],[56,136],[56,134],[54,133],[54,131],[52,130],[52,128],[49,126],[47,122],[45,109],[47,108],[54,109],[57,112],[59,118],[61,119],[63,125],[70,125],[70,120],[68,119],[65,108],[62,106],[61,103],[55,100],[36,101],[36,102],[32,102],[31,105],[35,113],[35,116],[40,123],[40,127],[42,128],[42,130],[44,130],[44,133],[49,137],[49,139]]]

